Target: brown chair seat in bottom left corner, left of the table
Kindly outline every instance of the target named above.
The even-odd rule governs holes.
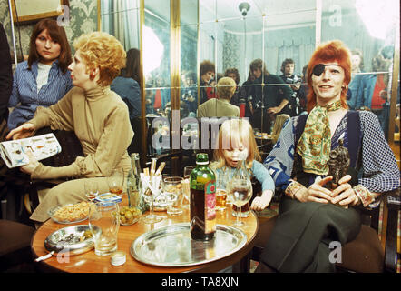
[[[21,268],[26,268],[26,264],[33,258],[32,236],[34,227],[0,219],[0,272],[21,271]]]

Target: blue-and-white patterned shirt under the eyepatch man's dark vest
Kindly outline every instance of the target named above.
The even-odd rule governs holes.
[[[337,126],[331,140],[331,149],[338,146],[338,139],[344,138],[348,146],[347,118],[345,115]],[[371,192],[383,193],[400,186],[400,173],[390,146],[380,127],[377,116],[368,111],[360,111],[362,137],[362,170],[363,177],[358,184]],[[279,135],[279,140],[264,161],[276,186],[286,189],[294,161],[295,128],[298,116],[289,119]],[[323,176],[321,176],[323,177]]]

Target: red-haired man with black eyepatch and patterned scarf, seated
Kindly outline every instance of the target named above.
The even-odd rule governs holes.
[[[378,206],[384,192],[400,186],[377,116],[348,110],[348,48],[340,41],[319,45],[307,77],[308,115],[289,119],[264,162],[284,195],[270,235],[260,226],[265,247],[256,272],[334,272],[330,243],[354,240],[361,208]],[[347,175],[329,186],[330,152],[341,145],[350,158]]]

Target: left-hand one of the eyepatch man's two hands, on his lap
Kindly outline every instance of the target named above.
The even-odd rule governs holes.
[[[307,188],[301,188],[295,193],[295,197],[300,202],[314,201],[319,203],[331,202],[331,191],[325,188],[326,183],[333,179],[332,176],[327,176],[319,181],[316,181]]]

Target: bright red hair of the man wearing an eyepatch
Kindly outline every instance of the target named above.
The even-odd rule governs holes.
[[[348,108],[347,88],[349,82],[351,82],[351,52],[341,41],[333,40],[319,45],[308,62],[308,112],[316,105],[316,93],[312,87],[313,68],[315,65],[330,62],[337,62],[344,69],[344,84],[346,86],[341,90],[341,104],[343,108]]]

